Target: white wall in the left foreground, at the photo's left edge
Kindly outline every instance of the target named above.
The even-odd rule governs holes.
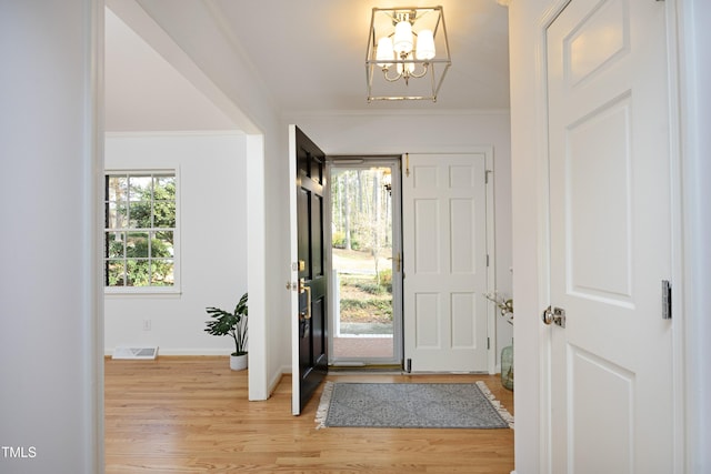
[[[3,474],[103,468],[97,3],[0,2]]]

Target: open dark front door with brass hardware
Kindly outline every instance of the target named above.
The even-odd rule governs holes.
[[[328,301],[323,264],[323,189],[326,157],[301,131],[296,129],[297,235],[299,314],[298,344],[299,407],[301,413],[328,372]],[[292,351],[292,353],[294,353]],[[296,396],[294,396],[296,404]]]

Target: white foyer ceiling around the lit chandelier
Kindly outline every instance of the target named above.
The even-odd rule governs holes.
[[[120,0],[112,3],[117,1]],[[261,78],[281,113],[509,108],[508,11],[494,0],[184,1],[201,3],[221,23],[223,32],[232,37],[232,44],[238,44],[251,62],[246,67]],[[159,24],[174,21],[181,9],[184,14],[194,12],[194,3],[191,10],[182,1],[138,0],[138,3]],[[368,103],[364,61],[372,8],[435,4],[443,7],[452,57],[437,103]],[[200,33],[199,29],[190,31],[193,44]],[[202,53],[216,54],[210,50]],[[111,73],[107,67],[107,85]],[[131,80],[131,74],[124,75],[121,80]]]

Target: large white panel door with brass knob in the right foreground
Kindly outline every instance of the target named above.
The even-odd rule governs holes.
[[[572,0],[547,39],[552,471],[671,473],[664,2]]]

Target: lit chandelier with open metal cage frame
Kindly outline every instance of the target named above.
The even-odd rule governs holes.
[[[368,102],[435,102],[451,63],[442,7],[373,8],[365,59]]]

